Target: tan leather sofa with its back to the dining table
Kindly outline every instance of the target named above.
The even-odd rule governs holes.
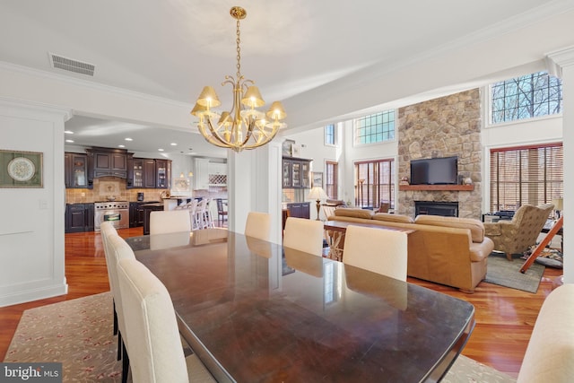
[[[419,215],[413,220],[401,214],[339,208],[328,220],[412,229],[407,274],[463,292],[474,292],[484,279],[487,258],[494,249],[492,240],[484,236],[483,222],[468,218]]]

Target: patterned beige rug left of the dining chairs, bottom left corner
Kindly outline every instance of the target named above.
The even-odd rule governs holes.
[[[27,309],[5,362],[62,363],[64,382],[120,382],[110,292]]]

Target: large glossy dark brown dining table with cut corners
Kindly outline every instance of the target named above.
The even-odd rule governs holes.
[[[126,241],[220,382],[439,381],[474,329],[465,300],[238,232]]]

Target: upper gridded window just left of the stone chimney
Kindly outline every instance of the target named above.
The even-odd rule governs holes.
[[[395,139],[395,110],[357,118],[355,144],[374,144]]]

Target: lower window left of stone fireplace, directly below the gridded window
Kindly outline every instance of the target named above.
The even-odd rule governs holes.
[[[395,161],[355,162],[355,205],[377,209],[383,202],[395,208]]]

